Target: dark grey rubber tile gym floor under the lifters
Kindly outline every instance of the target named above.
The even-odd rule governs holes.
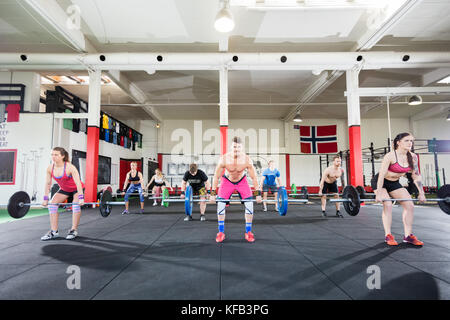
[[[131,212],[137,212],[132,200]],[[185,222],[184,208],[146,203],[146,214],[108,218],[84,209],[76,240],[65,240],[71,214],[60,215],[60,236],[40,241],[48,216],[0,224],[0,299],[450,299],[450,219],[437,207],[416,207],[414,233],[422,248],[387,247],[381,207],[356,217],[328,218],[313,205],[291,205],[285,217],[255,205],[256,241],[244,240],[241,205],[227,210],[226,239],[215,242],[217,217]],[[269,206],[273,209],[273,206]],[[401,207],[393,234],[403,234]],[[80,268],[81,288],[69,290],[69,266]],[[380,289],[368,289],[370,266]],[[369,268],[370,267],[370,268]],[[368,271],[369,268],[369,271]]]

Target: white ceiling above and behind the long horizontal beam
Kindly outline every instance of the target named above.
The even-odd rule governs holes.
[[[70,39],[27,4],[33,1],[0,0],[0,52],[77,52]],[[59,6],[58,9],[66,11],[69,16],[71,13],[68,10],[78,6],[81,12],[80,29],[72,32],[81,32],[88,43],[86,51],[92,53],[217,52],[219,43],[225,44],[230,52],[353,51],[358,50],[363,40],[373,34],[378,34],[380,38],[370,50],[450,51],[448,0],[413,1],[417,2],[416,5],[407,10],[401,19],[394,21],[389,19],[403,0],[335,1],[342,4],[339,8],[309,8],[311,0],[299,0],[295,3],[297,9],[267,8],[263,0],[236,0],[232,1],[231,6],[236,27],[228,35],[220,34],[213,28],[219,9],[218,0],[45,1],[47,4],[53,1],[54,6]],[[253,4],[244,6],[244,2]],[[282,6],[279,1],[277,4]],[[383,23],[387,22],[391,22],[392,27],[382,29]],[[384,33],[379,34],[380,30]],[[441,76],[438,71],[362,71],[360,86],[436,85]],[[54,74],[50,70],[40,72],[42,75]],[[77,75],[77,72],[70,74]],[[162,119],[219,117],[217,71],[157,71],[154,74],[124,71],[122,76],[144,94],[146,102],[154,105],[154,110]],[[231,71],[229,117],[281,119],[293,110],[308,88],[320,78],[309,71]],[[87,86],[64,86],[87,99]],[[325,86],[327,88],[323,92],[308,100],[321,105],[303,106],[302,116],[346,118],[345,74],[334,82],[325,83]],[[51,88],[50,85],[47,87]],[[427,96],[424,100],[445,101],[449,98]],[[118,87],[105,88],[102,93],[104,104],[143,102],[138,100]],[[374,102],[373,105],[362,105],[362,117],[386,116],[385,105],[379,105],[378,100],[361,99],[363,102]],[[338,102],[342,104],[335,104]],[[409,107],[394,104],[391,106],[391,116],[413,116],[440,105]],[[124,120],[151,118],[140,107],[103,106],[102,109]],[[444,116],[444,113],[437,116]]]

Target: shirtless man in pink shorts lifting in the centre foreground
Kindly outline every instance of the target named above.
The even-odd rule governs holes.
[[[225,239],[225,207],[227,200],[230,199],[234,191],[237,191],[243,200],[253,200],[252,190],[247,182],[244,170],[252,179],[255,191],[253,195],[256,195],[256,202],[261,203],[261,190],[258,185],[258,178],[256,176],[255,167],[249,156],[242,150],[241,139],[238,137],[233,138],[231,145],[231,152],[228,152],[220,157],[219,163],[216,167],[214,174],[213,186],[211,190],[210,200],[212,203],[216,201],[216,189],[219,184],[219,176],[226,169],[228,171],[228,177],[223,175],[220,181],[220,190],[217,197],[217,220],[219,224],[219,233],[216,236],[216,242],[222,242]],[[245,206],[245,239],[248,242],[255,241],[255,236],[251,232],[253,222],[253,202],[243,202]]]

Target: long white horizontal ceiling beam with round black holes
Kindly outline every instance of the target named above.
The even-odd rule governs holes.
[[[238,59],[234,59],[233,57]],[[283,58],[285,57],[285,59]],[[284,61],[284,62],[283,62]],[[2,70],[374,70],[450,67],[448,52],[0,53]]]

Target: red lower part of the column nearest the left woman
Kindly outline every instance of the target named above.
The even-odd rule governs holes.
[[[88,127],[85,202],[97,201],[99,127]]]

